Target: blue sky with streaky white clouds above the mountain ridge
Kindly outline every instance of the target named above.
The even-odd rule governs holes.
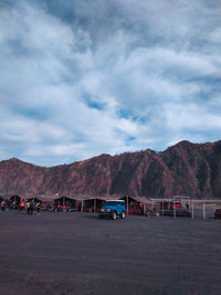
[[[0,160],[221,139],[220,0],[1,0]]]

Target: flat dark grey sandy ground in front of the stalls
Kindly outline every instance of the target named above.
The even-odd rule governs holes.
[[[221,221],[0,212],[0,294],[221,294]]]

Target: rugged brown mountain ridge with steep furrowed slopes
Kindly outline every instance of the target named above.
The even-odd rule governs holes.
[[[38,167],[19,159],[0,161],[0,194],[221,196],[221,141],[181,141],[165,151],[147,149],[101,155],[71,165]]]

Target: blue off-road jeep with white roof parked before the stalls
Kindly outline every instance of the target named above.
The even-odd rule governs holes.
[[[126,206],[123,200],[109,200],[102,207],[98,213],[98,218],[110,218],[115,220],[117,217],[124,219],[126,217]]]

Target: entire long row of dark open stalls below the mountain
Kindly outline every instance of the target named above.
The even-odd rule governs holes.
[[[6,200],[10,209],[19,209],[21,201],[40,202],[44,211],[70,211],[70,212],[98,212],[107,200],[125,200],[126,213],[134,215],[162,214],[172,217],[200,217],[203,219],[214,217],[221,219],[221,201],[215,200],[192,200],[189,197],[176,196],[170,199],[149,199],[146,197],[66,197],[45,198],[20,196],[0,196],[0,202]],[[219,203],[220,202],[220,203]]]

